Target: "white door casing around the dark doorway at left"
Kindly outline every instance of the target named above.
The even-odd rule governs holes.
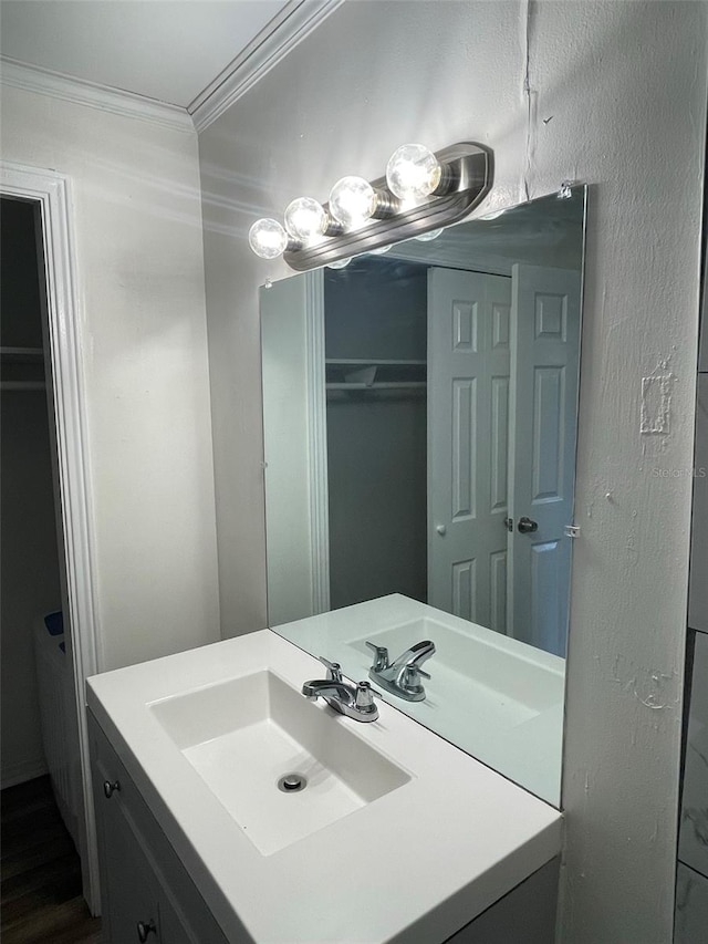
[[[74,235],[69,180],[52,170],[11,163],[0,165],[3,196],[38,203],[49,312],[49,340],[56,422],[59,489],[64,531],[64,553],[72,627],[79,740],[84,799],[85,855],[82,855],[84,894],[97,913],[98,857],[91,790],[88,732],[84,684],[100,665],[100,634],[95,585],[95,542],[92,520],[91,476],[84,413],[83,372],[76,324],[79,304],[74,271]]]

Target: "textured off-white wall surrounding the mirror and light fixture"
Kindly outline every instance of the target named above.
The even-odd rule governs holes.
[[[250,253],[253,219],[299,194],[324,199],[342,174],[378,176],[410,139],[490,145],[483,211],[568,178],[593,185],[564,789],[572,944],[670,940],[690,481],[652,468],[658,455],[691,464],[706,13],[351,0],[200,136],[227,634],[266,621],[257,287],[289,274]],[[643,434],[642,378],[655,374],[671,375],[669,425]]]

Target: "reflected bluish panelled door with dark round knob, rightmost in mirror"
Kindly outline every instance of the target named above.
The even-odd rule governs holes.
[[[513,635],[565,654],[580,355],[580,274],[513,267],[509,595]],[[535,531],[521,533],[528,517]],[[511,537],[511,536],[510,536]]]

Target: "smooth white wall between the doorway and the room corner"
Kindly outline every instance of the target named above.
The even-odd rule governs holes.
[[[2,156],[73,184],[101,668],[211,642],[196,136],[2,86]]]

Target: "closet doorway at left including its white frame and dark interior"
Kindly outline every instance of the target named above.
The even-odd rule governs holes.
[[[84,697],[97,634],[70,185],[7,163],[0,196],[2,786],[49,775],[81,858],[83,896],[97,914]]]

